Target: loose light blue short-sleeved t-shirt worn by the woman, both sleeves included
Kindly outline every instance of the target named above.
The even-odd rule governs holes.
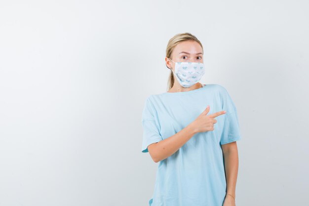
[[[142,152],[192,123],[207,107],[216,117],[213,131],[192,136],[177,152],[158,164],[149,206],[222,206],[226,177],[222,144],[240,140],[236,107],[225,87],[206,84],[184,92],[147,97],[142,113]]]

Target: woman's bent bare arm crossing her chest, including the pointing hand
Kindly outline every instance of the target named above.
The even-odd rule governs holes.
[[[226,112],[220,111],[207,115],[209,110],[210,108],[207,106],[207,108],[191,124],[166,139],[150,144],[148,146],[148,151],[154,162],[160,162],[177,152],[177,150],[189,141],[194,134],[198,132],[213,131],[214,124],[217,123],[217,120],[214,118],[223,115]]]

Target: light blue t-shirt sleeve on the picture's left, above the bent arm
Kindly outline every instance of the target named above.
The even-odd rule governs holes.
[[[158,125],[155,121],[154,106],[148,97],[144,104],[142,112],[142,126],[143,126],[143,141],[142,141],[142,152],[149,152],[148,146],[152,143],[163,140],[160,135]]]

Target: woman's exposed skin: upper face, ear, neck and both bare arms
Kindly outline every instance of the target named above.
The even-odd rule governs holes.
[[[180,53],[187,52],[187,53]],[[200,62],[203,63],[203,51],[199,43],[196,41],[183,41],[178,43],[171,55],[171,59],[174,62]],[[168,68],[172,69],[174,72],[175,63],[170,61],[165,57],[165,62]],[[183,87],[178,81],[174,82],[174,85],[167,92],[183,92],[190,91],[200,88],[201,83],[197,82],[190,87]],[[173,155],[179,150],[187,141],[193,137],[194,134],[198,132],[207,132],[214,130],[214,124],[217,123],[215,120],[219,115],[226,114],[225,111],[219,111],[213,114],[208,114],[210,107],[207,106],[206,109],[188,126],[177,132],[176,134],[161,140],[157,143],[150,144],[148,146],[148,151],[155,163],[158,163],[169,156]],[[227,180],[227,194],[231,194],[235,198],[235,187],[238,173],[238,150],[237,144],[231,142],[228,144],[221,145],[224,166]],[[234,198],[227,195],[223,206],[235,206]]]

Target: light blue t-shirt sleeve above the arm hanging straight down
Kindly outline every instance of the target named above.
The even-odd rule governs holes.
[[[241,140],[236,106],[226,89],[224,89],[223,96],[223,110],[227,111],[227,113],[225,114],[223,131],[220,139],[221,145]]]

